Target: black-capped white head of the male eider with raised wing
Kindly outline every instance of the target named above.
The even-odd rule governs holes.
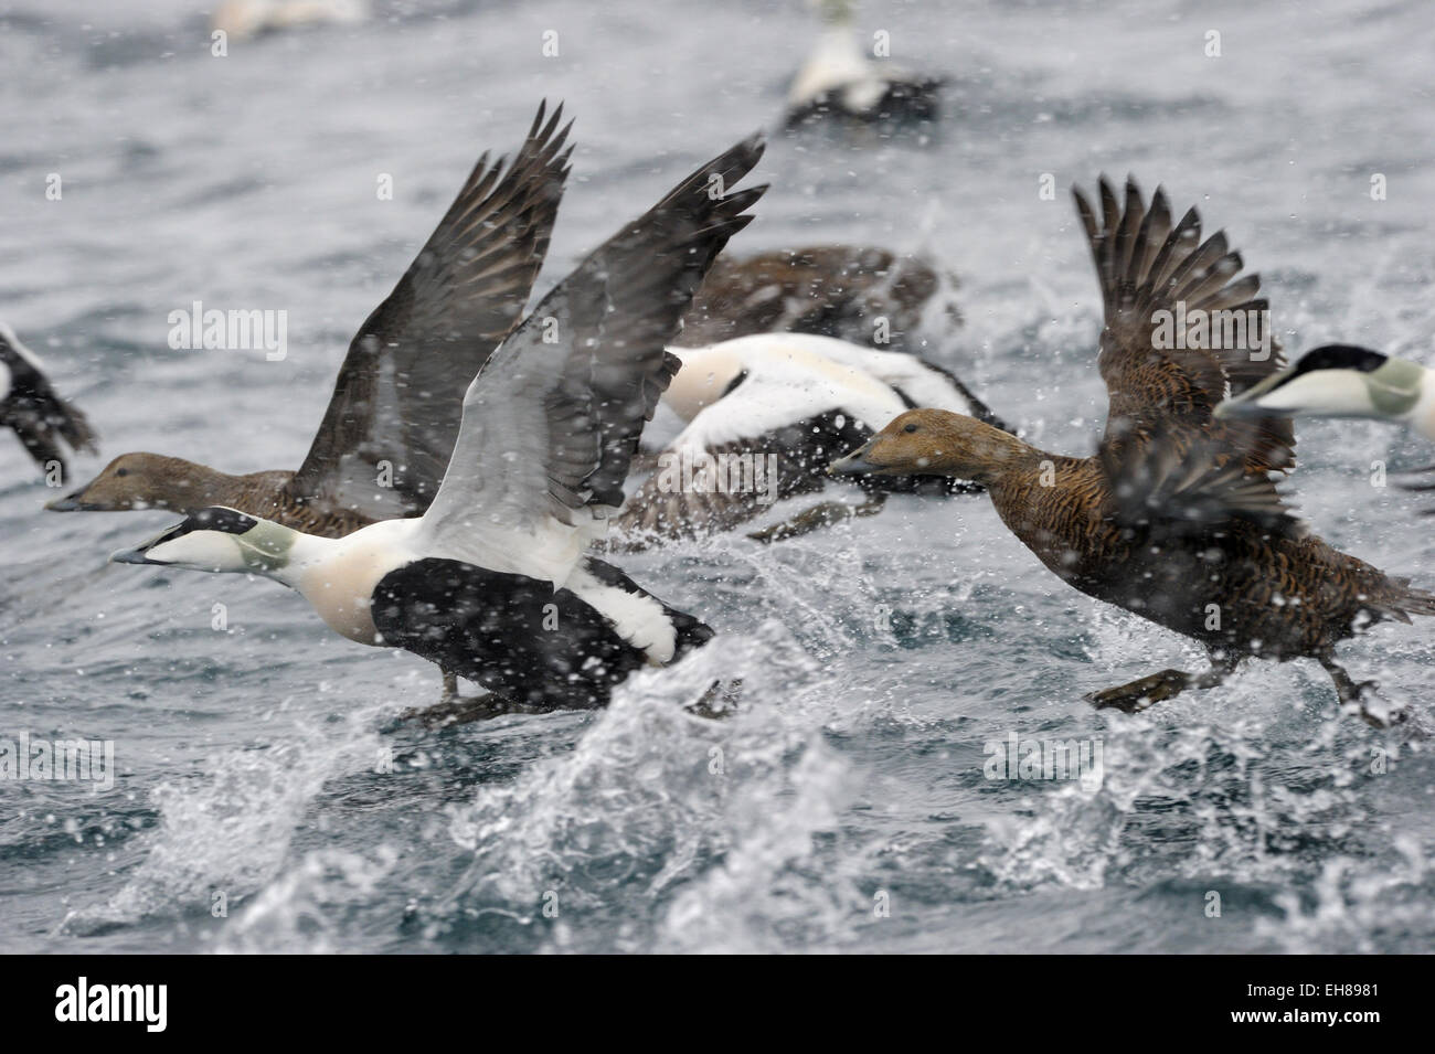
[[[189,571],[248,572],[283,581],[297,531],[222,505],[201,509],[110,564],[158,564]]]

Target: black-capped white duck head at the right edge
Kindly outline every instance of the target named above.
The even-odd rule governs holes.
[[[1411,422],[1428,409],[1428,370],[1355,344],[1326,344],[1215,407],[1217,417],[1378,417]],[[1424,414],[1429,416],[1429,414]],[[1435,422],[1415,422],[1435,429]]]

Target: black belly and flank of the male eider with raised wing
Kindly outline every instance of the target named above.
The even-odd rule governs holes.
[[[646,594],[603,561],[604,585]],[[692,615],[663,605],[677,631],[676,657],[710,640]],[[613,687],[647,657],[591,604],[551,582],[452,559],[420,559],[385,575],[373,624],[390,647],[412,651],[514,703],[545,710],[607,706]]]

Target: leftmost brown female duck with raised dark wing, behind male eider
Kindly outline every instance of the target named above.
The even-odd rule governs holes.
[[[538,108],[514,163],[478,159],[438,228],[349,344],[298,470],[231,476],[184,457],[126,453],[57,512],[222,505],[326,538],[428,508],[458,435],[466,384],[522,315],[558,212],[571,125]],[[387,472],[382,472],[382,467]],[[387,486],[379,483],[383,479]]]

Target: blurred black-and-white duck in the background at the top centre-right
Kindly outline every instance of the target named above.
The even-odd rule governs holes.
[[[824,118],[936,120],[941,77],[913,76],[868,59],[852,29],[854,0],[815,0],[824,26],[788,89],[788,128]]]

